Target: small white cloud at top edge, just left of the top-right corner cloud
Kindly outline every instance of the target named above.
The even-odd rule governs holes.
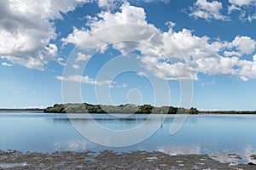
[[[218,1],[207,2],[207,0],[197,0],[193,7],[190,7],[191,13],[189,16],[205,20],[228,20],[226,16],[220,13],[222,8],[222,3]]]

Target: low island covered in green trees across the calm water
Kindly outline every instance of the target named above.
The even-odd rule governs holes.
[[[44,110],[45,113],[138,113],[138,114],[198,114],[195,107],[190,109],[172,106],[154,107],[152,105],[90,105],[83,104],[55,104]]]

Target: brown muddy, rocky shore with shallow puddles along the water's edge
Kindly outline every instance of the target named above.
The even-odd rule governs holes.
[[[256,158],[256,156],[252,156]],[[250,165],[251,164],[251,165]],[[207,155],[170,156],[162,152],[115,153],[104,150],[54,153],[0,151],[0,169],[252,169],[253,163],[232,165]]]

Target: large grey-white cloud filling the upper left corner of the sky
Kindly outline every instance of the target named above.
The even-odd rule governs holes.
[[[0,56],[28,68],[43,70],[58,48],[53,22],[86,0],[2,0],[0,2]]]

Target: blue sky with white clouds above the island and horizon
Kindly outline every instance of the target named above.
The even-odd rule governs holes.
[[[255,0],[2,0],[0,108],[256,110]]]

